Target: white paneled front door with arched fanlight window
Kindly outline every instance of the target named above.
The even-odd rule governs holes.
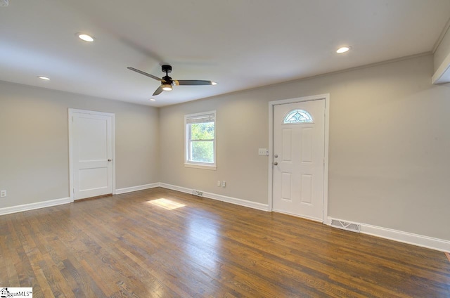
[[[323,221],[325,99],[274,105],[273,207]]]

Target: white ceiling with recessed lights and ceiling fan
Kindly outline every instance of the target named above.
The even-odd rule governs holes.
[[[449,15],[449,0],[9,0],[0,80],[163,106],[430,52]],[[151,102],[160,83],[127,67],[165,63],[219,84]]]

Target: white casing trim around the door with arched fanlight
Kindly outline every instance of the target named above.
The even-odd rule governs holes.
[[[330,127],[330,93],[319,94],[314,96],[304,96],[299,98],[289,98],[280,101],[269,101],[269,177],[268,177],[268,195],[269,195],[269,212],[273,211],[274,205],[274,107],[275,105],[285,105],[287,103],[300,103],[303,101],[325,100],[325,139],[324,156],[323,156],[323,212],[322,223],[326,223],[328,219],[328,139]]]

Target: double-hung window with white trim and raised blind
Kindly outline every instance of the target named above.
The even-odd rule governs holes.
[[[184,116],[185,165],[216,169],[216,111]]]

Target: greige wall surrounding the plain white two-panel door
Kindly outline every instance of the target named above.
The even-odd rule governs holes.
[[[160,181],[158,109],[0,82],[0,208],[70,197],[68,108],[115,113],[117,188]]]

